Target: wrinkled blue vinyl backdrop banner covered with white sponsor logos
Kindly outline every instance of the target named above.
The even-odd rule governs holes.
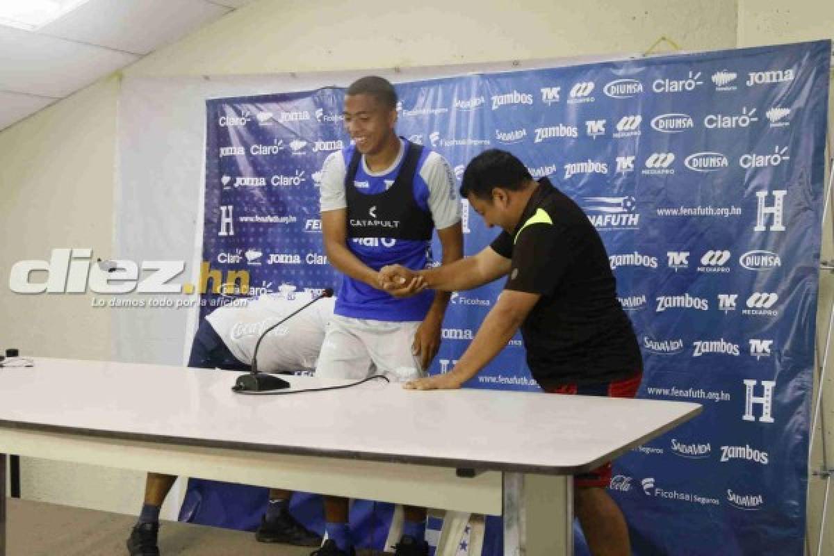
[[[638,554],[801,553],[830,49],[396,86],[398,133],[459,179],[477,153],[503,148],[585,209],[643,350],[640,396],[704,404],[616,463],[610,492]],[[203,260],[249,270],[249,295],[338,284],[317,182],[324,158],[349,145],[343,98],[324,88],[207,103]],[[477,253],[496,231],[465,201],[463,215]],[[454,366],[501,287],[453,295],[431,373]],[[223,303],[204,298],[203,315]],[[524,360],[516,338],[467,386],[535,390]],[[487,529],[484,553],[499,554],[500,521]]]

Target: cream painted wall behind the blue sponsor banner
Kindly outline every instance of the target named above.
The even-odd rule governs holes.
[[[381,0],[260,0],[124,73],[344,72],[641,53],[664,35],[697,51],[832,33],[834,4],[827,0],[796,0],[790,8],[772,0],[430,0],[399,6]],[[0,275],[8,276],[11,262],[48,258],[56,247],[110,254],[117,97],[118,80],[103,80],[0,133]],[[68,297],[21,298],[0,288],[0,306],[15,316],[0,322],[0,338],[24,353],[107,358],[107,310]],[[822,297],[827,307],[831,288]],[[827,315],[822,321],[827,323]],[[834,387],[826,388],[830,393]],[[834,400],[826,407],[834,407]],[[32,460],[24,460],[23,469],[26,498],[138,511],[139,475]],[[812,498],[811,521],[818,523],[819,497]]]

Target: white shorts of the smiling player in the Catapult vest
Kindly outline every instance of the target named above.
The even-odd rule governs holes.
[[[420,322],[414,321],[392,323],[333,315],[324,333],[315,376],[361,380],[379,373],[391,382],[423,377],[420,358],[411,353],[419,326]]]

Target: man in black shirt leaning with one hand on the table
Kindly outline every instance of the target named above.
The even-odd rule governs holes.
[[[469,163],[460,193],[504,232],[475,256],[439,268],[386,267],[386,288],[407,296],[477,288],[504,275],[507,282],[455,368],[406,388],[460,388],[521,328],[527,363],[545,392],[633,398],[640,348],[585,213],[547,178],[536,182],[518,158],[495,149]],[[610,473],[607,463],[575,477],[575,513],[595,555],[630,553],[625,518],[605,492]]]

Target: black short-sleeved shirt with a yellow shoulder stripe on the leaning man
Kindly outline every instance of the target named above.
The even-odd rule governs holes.
[[[505,289],[541,295],[521,325],[533,378],[550,387],[640,372],[640,348],[600,234],[565,193],[547,178],[539,183],[514,233],[490,246],[512,259]]]

